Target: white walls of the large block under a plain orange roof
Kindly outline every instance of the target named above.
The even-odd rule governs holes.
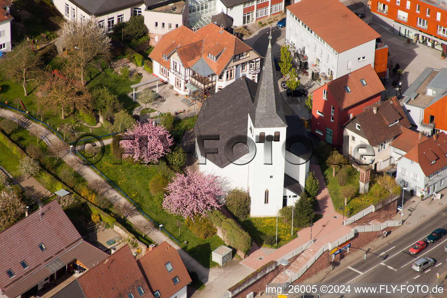
[[[287,11],[286,28],[286,40],[294,45],[296,50],[301,50],[301,53],[304,50],[308,55],[309,72],[311,65],[316,64],[316,72],[332,75],[335,80],[360,67],[374,65],[375,40],[337,53],[291,11]]]

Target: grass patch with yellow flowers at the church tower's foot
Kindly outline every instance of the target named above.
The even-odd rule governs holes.
[[[276,235],[276,217],[253,217],[239,221],[239,224],[259,246],[267,246],[264,245],[262,235]],[[278,244],[273,248],[279,248],[296,237],[296,232],[299,229],[294,228],[292,236],[291,228],[291,224],[283,222],[283,218],[278,216]]]

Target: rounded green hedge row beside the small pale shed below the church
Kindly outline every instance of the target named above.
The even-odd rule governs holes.
[[[234,220],[227,218],[219,210],[213,210],[210,218],[216,227],[222,229],[225,243],[245,255],[248,254],[252,246],[252,239],[246,231],[242,230]]]

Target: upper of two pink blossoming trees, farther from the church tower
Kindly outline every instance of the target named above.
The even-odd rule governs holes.
[[[148,164],[156,163],[160,157],[171,152],[169,147],[174,143],[171,135],[164,126],[154,125],[152,122],[140,123],[136,122],[134,126],[127,130],[123,139],[126,137],[132,140],[122,140],[120,144],[127,152],[123,156],[131,156],[135,160],[142,160]]]

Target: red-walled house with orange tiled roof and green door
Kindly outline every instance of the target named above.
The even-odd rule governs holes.
[[[312,92],[312,132],[342,147],[343,124],[379,102],[384,90],[371,64],[322,85]]]

